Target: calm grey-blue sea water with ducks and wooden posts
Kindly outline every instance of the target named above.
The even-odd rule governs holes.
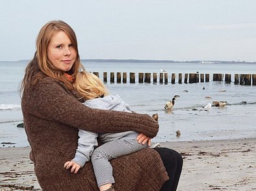
[[[0,146],[27,146],[25,129],[17,128],[23,122],[19,84],[27,61],[0,62]],[[98,72],[110,93],[119,94],[133,111],[159,115],[159,133],[153,142],[238,139],[256,137],[256,86],[235,85],[234,74],[256,74],[253,63],[152,63],[152,62],[83,62],[87,71]],[[138,73],[168,73],[168,84],[138,83]],[[110,83],[110,73],[127,73],[127,83]],[[129,83],[129,73],[135,73],[135,84]],[[171,84],[175,73],[210,74],[210,82],[196,84]],[[212,74],[231,74],[231,84],[213,82]],[[177,77],[176,77],[177,78]],[[116,79],[115,79],[116,80]],[[172,111],[164,111],[164,105],[175,100]],[[209,102],[226,101],[224,107],[204,109]],[[147,128],[145,124],[145,128]],[[181,135],[177,137],[176,131]]]

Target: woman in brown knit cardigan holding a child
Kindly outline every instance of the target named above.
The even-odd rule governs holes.
[[[63,168],[75,155],[79,128],[94,133],[137,131],[142,144],[157,135],[159,126],[149,115],[84,106],[83,98],[72,86],[73,76],[81,70],[72,28],[63,21],[46,23],[21,84],[30,157],[44,191],[98,189],[90,162],[77,174]],[[113,159],[111,164],[116,190],[175,190],[182,159],[173,150],[146,148]]]

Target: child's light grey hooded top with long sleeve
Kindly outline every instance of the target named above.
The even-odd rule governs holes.
[[[84,105],[91,108],[126,111],[131,113],[130,107],[125,104],[119,95],[108,95],[103,98],[94,98],[84,102]],[[127,140],[136,139],[138,133],[135,131],[125,131],[121,133],[97,134],[79,129],[78,135],[77,151],[72,161],[75,161],[75,163],[83,167],[87,161],[90,161],[90,155],[92,155],[94,148],[97,147],[97,137],[99,137],[101,142],[105,143],[114,139],[122,139],[122,137],[125,137]]]

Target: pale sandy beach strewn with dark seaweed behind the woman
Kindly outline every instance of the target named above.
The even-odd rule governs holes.
[[[177,190],[256,190],[255,139],[160,142],[183,155]],[[0,190],[41,190],[30,148],[0,148]]]

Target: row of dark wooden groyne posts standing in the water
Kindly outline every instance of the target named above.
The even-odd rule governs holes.
[[[93,72],[96,76],[99,77],[99,73]],[[123,78],[122,78],[123,74]],[[185,73],[184,80],[182,78],[183,74],[179,73],[178,83],[185,84],[189,83],[198,83],[198,82],[209,82],[210,74],[199,74],[199,73]],[[225,76],[225,78],[224,78]],[[224,81],[227,84],[231,84],[231,74],[213,74],[213,81]],[[171,83],[175,84],[176,74],[172,73]],[[199,81],[200,80],[200,81]],[[183,81],[183,82],[182,82]],[[107,73],[103,73],[103,82],[107,82]],[[115,73],[110,73],[110,82],[115,82]],[[127,83],[127,73],[116,73],[116,82],[117,83]],[[135,73],[130,73],[131,84],[135,83]],[[157,83],[157,73],[153,73],[153,82]],[[138,73],[138,83],[151,83],[151,73]],[[159,83],[168,84],[168,73],[159,74]],[[235,74],[234,84],[240,85],[256,85],[256,74]]]

